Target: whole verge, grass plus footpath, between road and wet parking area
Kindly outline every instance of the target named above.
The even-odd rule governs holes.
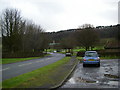
[[[60,85],[75,65],[65,57],[53,64],[2,82],[3,88],[51,88]]]

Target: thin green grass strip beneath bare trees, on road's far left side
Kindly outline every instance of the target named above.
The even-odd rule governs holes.
[[[49,54],[45,55],[48,56]],[[31,60],[31,59],[38,59],[42,57],[29,57],[29,58],[3,58],[0,59],[0,64],[8,64],[8,63],[15,63],[15,62],[21,62],[21,61],[26,61],[26,60]]]

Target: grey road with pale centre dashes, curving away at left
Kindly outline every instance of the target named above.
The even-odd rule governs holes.
[[[35,69],[52,64],[63,57],[65,57],[64,54],[53,53],[50,56],[40,59],[2,65],[2,70],[0,70],[0,72],[2,72],[2,80],[0,81],[21,75],[23,73],[31,72]]]

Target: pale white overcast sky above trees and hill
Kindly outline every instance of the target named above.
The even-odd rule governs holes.
[[[16,8],[22,17],[41,25],[46,31],[118,24],[119,0],[0,0],[0,13]]]

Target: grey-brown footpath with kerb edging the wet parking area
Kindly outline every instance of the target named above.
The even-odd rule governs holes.
[[[64,82],[70,77],[70,75],[72,74],[72,72],[75,70],[76,66],[78,64],[78,60],[75,58],[75,56],[72,56],[70,61],[66,64],[64,64],[63,66],[61,66],[61,71],[59,72],[59,70],[57,71],[58,74],[55,74],[55,76],[64,76],[63,78],[61,78],[59,80],[59,83],[57,83],[56,85],[52,85],[49,89],[58,89],[59,87],[61,87]],[[54,80],[58,80],[57,78],[53,78]]]

